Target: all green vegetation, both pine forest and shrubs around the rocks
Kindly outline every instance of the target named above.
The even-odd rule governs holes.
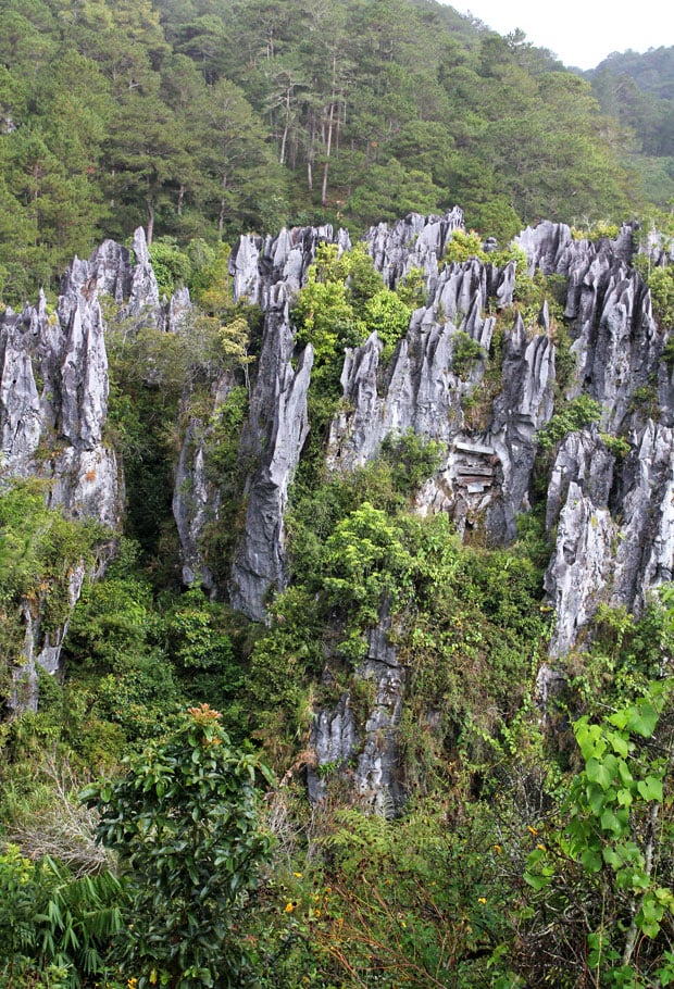
[[[362,246],[322,246],[294,300],[315,353],[312,429],[286,519],[289,584],[267,623],[182,585],[171,506],[189,423],[221,501],[200,549],[224,586],[262,322],[232,299],[236,234],[314,220],[358,234],[459,202],[503,243],[544,215],[601,235],[644,202],[592,91],[662,161],[670,91],[651,87],[648,136],[640,110],[606,104],[599,76],[590,89],[520,35],[426,0],[0,0],[0,15],[2,299],[53,290],[74,252],[143,224],[162,293],[187,284],[198,303],[163,334],[102,300],[123,536],[48,508],[46,483],[0,489],[3,697],[21,706],[26,623],[62,628],[74,575],[105,563],[70,614],[59,675],[38,675],[38,710],[0,722],[0,986],[674,982],[672,587],[639,618],[600,606],[544,710],[542,499],[492,548],[413,511],[433,441],[402,434],[366,466],[325,468],[344,347],[376,330],[386,367],[424,302],[422,273],[392,291]],[[442,260],[469,258],[487,260],[475,233]],[[671,326],[674,268],[641,267]],[[479,429],[504,327],[547,303],[559,393],[539,465],[601,412],[563,397],[563,280],[520,265],[512,309],[490,300],[489,352],[453,338],[457,377],[484,368],[462,398]],[[372,710],[361,664],[380,625],[407,680],[398,797],[375,815],[354,766],[314,765],[310,742],[345,691],[358,717]]]

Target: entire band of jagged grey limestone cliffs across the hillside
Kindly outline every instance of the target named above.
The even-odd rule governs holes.
[[[492,263],[492,245],[485,246],[485,261],[446,264],[447,245],[462,229],[454,208],[444,217],[413,214],[370,230],[367,249],[385,284],[395,288],[421,271],[427,296],[386,364],[376,334],[345,351],[344,401],[329,428],[326,467],[352,471],[376,458],[391,435],[412,430],[433,438],[442,459],[417,492],[416,510],[447,512],[459,533],[482,531],[491,544],[512,541],[517,516],[545,498],[553,663],[583,641],[600,602],[638,613],[649,589],[672,579],[674,384],[662,359],[671,327],[653,320],[648,288],[632,266],[629,226],[614,241],[575,240],[569,227],[550,223],[517,238],[529,278],[541,272],[563,286],[557,321],[547,302],[533,312],[517,301],[522,272],[514,261]],[[264,329],[237,437],[245,508],[228,571],[219,567],[217,577],[204,558],[204,534],[225,496],[209,461],[207,420],[187,425],[176,467],[174,515],[185,581],[200,579],[254,621],[264,621],[266,596],[287,579],[285,513],[311,428],[313,367],[311,346],[296,345],[290,306],[322,241],[350,248],[344,230],[301,228],[275,238],[242,237],[230,259],[235,296],[260,305]],[[51,504],[115,529],[122,486],[114,451],[103,441],[103,293],[129,331],[142,324],[176,328],[190,305],[185,292],[170,305],[160,303],[138,231],[133,255],[107,241],[87,262],[75,260],[54,312],[43,298],[22,314],[5,312],[2,474],[42,477]],[[235,375],[226,373],[213,387],[213,408],[236,387]],[[556,409],[578,398],[598,403],[599,421],[566,430],[541,456],[540,430]],[[82,576],[73,572],[73,600]],[[354,674],[373,684],[369,715],[357,722],[347,691],[334,709],[316,712],[312,729],[317,765],[350,761],[358,791],[379,810],[399,797],[396,726],[405,680],[387,621],[383,616],[373,629]],[[55,668],[60,640],[41,640],[32,614],[25,624],[28,662]],[[319,774],[310,774],[310,790],[321,796]]]

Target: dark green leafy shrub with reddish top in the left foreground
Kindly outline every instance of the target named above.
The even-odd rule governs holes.
[[[132,923],[122,952],[139,986],[245,985],[233,930],[269,850],[252,755],[234,750],[208,704],[166,741],[127,761],[113,784],[89,787],[100,840],[129,871]]]

